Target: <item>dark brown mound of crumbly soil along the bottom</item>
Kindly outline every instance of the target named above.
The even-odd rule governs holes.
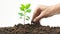
[[[60,34],[60,27],[18,24],[13,27],[0,28],[0,34]]]

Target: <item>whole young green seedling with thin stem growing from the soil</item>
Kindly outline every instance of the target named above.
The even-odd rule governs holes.
[[[30,17],[27,16],[27,13],[30,13],[31,12],[31,9],[30,9],[30,4],[21,4],[21,7],[20,8],[20,12],[18,13],[20,15],[20,18],[24,17],[24,24],[25,24],[25,20],[29,20]]]

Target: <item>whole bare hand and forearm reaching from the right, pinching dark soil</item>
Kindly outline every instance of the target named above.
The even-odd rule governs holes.
[[[36,24],[40,24],[42,18],[51,17],[53,15],[60,14],[60,4],[52,6],[38,6],[35,12],[33,13],[32,21]],[[31,23],[33,23],[31,21]]]

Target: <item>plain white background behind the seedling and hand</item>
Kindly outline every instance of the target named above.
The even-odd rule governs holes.
[[[8,27],[14,26],[18,23],[23,23],[23,19],[19,19],[18,12],[20,4],[28,4],[31,3],[31,14],[30,17],[33,15],[34,9],[38,5],[55,5],[60,3],[60,0],[0,0],[0,27]],[[32,18],[32,17],[31,17]],[[30,19],[31,20],[31,19]],[[30,21],[28,21],[30,23]],[[27,24],[27,22],[26,22]],[[49,18],[43,18],[41,20],[41,25],[43,26],[53,26],[53,27],[60,27],[60,15],[55,15]]]

